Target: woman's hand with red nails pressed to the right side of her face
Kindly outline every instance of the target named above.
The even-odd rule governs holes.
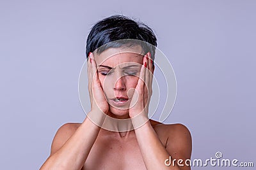
[[[148,115],[148,105],[152,96],[152,79],[154,68],[150,52],[143,57],[143,66],[140,69],[140,78],[134,90],[129,107],[129,116],[131,118],[137,115]]]

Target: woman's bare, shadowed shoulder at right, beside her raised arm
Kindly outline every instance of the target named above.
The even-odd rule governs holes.
[[[175,158],[190,159],[192,138],[188,127],[182,124],[152,125],[166,150]]]

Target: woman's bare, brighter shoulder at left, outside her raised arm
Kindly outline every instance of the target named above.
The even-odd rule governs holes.
[[[52,141],[51,155],[60,150],[80,125],[81,123],[66,123],[61,125]]]

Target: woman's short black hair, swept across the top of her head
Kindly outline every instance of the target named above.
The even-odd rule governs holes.
[[[122,15],[104,18],[93,25],[86,41],[86,57],[90,52],[94,52],[100,47],[101,49],[97,50],[98,54],[110,47],[134,45],[134,41],[129,41],[129,39],[140,40],[136,41],[136,45],[141,45],[143,52],[150,52],[154,60],[157,39],[152,29],[141,22],[136,22]]]

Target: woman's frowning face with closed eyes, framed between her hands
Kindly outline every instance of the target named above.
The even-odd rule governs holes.
[[[109,48],[95,55],[98,76],[109,103],[109,116],[129,118],[129,106],[140,76],[141,47]]]

